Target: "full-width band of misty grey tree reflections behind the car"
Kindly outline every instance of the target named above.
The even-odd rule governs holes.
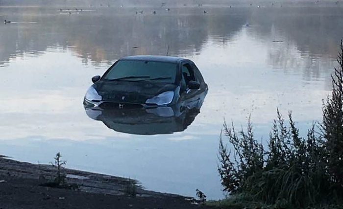
[[[73,8],[71,8],[73,10]],[[84,8],[89,9],[89,8]],[[143,9],[144,14],[136,15]],[[108,62],[129,54],[192,55],[209,37],[225,45],[249,23],[247,32],[270,49],[275,69],[302,70],[319,78],[332,69],[342,38],[340,8],[102,8],[59,14],[58,7],[0,8],[4,16],[24,22],[0,27],[0,61],[49,47],[71,47],[84,63]],[[157,14],[152,14],[156,11]],[[34,22],[34,23],[28,23]],[[283,42],[273,42],[283,41]],[[299,56],[300,54],[300,56]],[[0,63],[1,64],[1,63]]]

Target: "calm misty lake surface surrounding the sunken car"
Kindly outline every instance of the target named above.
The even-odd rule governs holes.
[[[257,139],[268,139],[277,107],[293,111],[302,134],[321,119],[343,34],[340,5],[74,8],[0,7],[0,19],[12,21],[0,24],[0,154],[49,163],[61,152],[70,168],[218,199],[224,119],[239,129],[251,114]],[[186,130],[124,134],[86,115],[93,75],[125,55],[167,51],[194,60],[209,85]]]

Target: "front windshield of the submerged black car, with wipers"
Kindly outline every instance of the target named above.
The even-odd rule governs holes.
[[[105,75],[105,80],[174,83],[176,63],[121,60]]]

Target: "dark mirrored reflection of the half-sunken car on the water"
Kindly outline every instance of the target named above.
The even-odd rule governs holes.
[[[207,93],[207,92],[206,92]],[[102,121],[117,132],[137,135],[172,134],[187,129],[196,116],[206,93],[188,103],[154,108],[84,106],[87,116]]]

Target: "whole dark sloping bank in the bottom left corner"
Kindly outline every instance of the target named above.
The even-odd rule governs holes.
[[[22,163],[0,157],[0,209],[205,209],[180,195],[137,188],[125,194],[127,179],[65,169],[77,189],[40,186],[55,175],[51,165]],[[82,178],[81,178],[82,177]]]

